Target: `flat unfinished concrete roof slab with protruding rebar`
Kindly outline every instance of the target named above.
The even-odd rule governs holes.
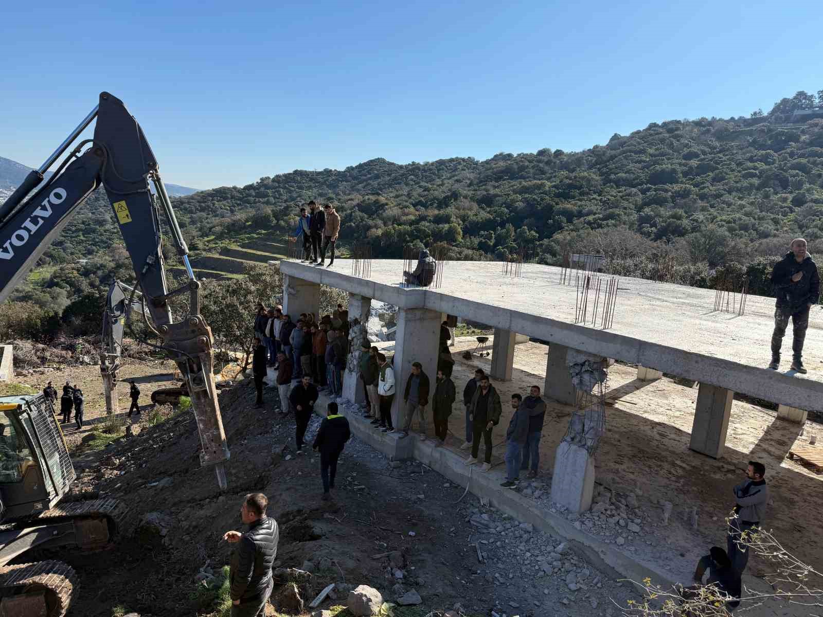
[[[371,276],[351,275],[351,261],[332,269],[279,262],[284,274],[379,299],[401,308],[458,315],[616,360],[642,364],[765,401],[823,411],[823,313],[811,310],[804,347],[807,375],[788,371],[792,332],[783,340],[780,371],[770,360],[774,299],[749,295],[746,311],[714,312],[714,290],[623,277],[611,328],[574,323],[574,285],[560,284],[560,268],[523,264],[522,276],[503,276],[500,262],[449,262],[439,288],[401,285],[402,260],[375,259]],[[575,272],[573,271],[574,275]],[[588,303],[594,302],[594,291]],[[600,299],[602,310],[602,296]],[[589,315],[592,310],[589,309]]]

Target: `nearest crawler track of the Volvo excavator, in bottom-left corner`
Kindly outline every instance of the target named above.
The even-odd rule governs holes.
[[[63,617],[79,587],[77,573],[54,559],[0,568],[0,614]]]

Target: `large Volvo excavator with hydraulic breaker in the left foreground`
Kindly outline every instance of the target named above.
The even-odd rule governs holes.
[[[93,137],[74,146],[44,182],[45,172],[95,118]],[[200,463],[213,466],[217,484],[226,489],[229,448],[212,374],[212,331],[200,313],[200,283],[155,155],[140,124],[114,95],[100,93],[91,113],[0,205],[0,303],[100,186],[132,260],[140,313],[158,339],[147,344],[177,364],[198,426]],[[188,274],[174,290],[166,282],[160,211]],[[188,304],[175,320],[170,302],[179,296]],[[100,550],[128,535],[132,523],[123,503],[63,499],[74,480],[51,402],[43,394],[0,397],[0,617],[62,617],[77,589],[77,574],[56,559],[12,564],[23,561],[26,551]]]

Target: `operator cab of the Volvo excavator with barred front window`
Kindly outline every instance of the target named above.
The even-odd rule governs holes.
[[[0,397],[2,520],[52,508],[74,479],[51,401],[43,394]]]

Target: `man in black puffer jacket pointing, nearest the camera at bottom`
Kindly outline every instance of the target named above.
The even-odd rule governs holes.
[[[231,617],[263,617],[272,593],[272,566],[277,559],[280,531],[277,521],[266,516],[268,499],[263,493],[246,495],[240,519],[249,531],[226,531],[223,540],[237,544],[229,567]]]

